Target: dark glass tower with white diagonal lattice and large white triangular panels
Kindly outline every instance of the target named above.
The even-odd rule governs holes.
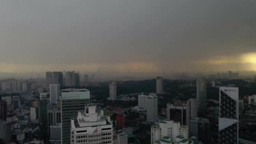
[[[238,88],[220,87],[219,144],[238,144]]]

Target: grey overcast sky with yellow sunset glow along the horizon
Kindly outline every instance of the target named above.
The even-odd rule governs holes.
[[[256,70],[256,0],[1,0],[0,72]]]

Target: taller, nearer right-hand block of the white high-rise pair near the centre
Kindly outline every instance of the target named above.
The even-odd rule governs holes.
[[[146,102],[147,121],[155,122],[158,119],[158,96],[149,95]]]

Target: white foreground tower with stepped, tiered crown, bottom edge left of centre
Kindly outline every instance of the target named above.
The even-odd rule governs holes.
[[[70,144],[113,144],[113,129],[110,116],[103,110],[97,113],[96,105],[86,104],[76,118],[71,119]]]

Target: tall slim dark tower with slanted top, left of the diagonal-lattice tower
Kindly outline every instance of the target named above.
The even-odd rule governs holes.
[[[206,110],[206,81],[196,80],[196,99],[198,102],[198,113]]]

